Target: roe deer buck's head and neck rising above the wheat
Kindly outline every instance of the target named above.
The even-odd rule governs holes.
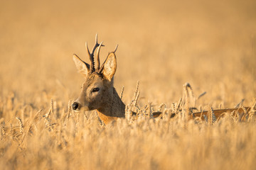
[[[97,35],[92,53],[90,53],[87,43],[85,46],[90,58],[90,64],[83,62],[77,55],[73,55],[78,71],[85,77],[80,97],[72,104],[73,110],[79,111],[83,108],[85,111],[92,111],[96,109],[97,114],[105,124],[117,118],[124,118],[124,103],[113,86],[113,77],[117,69],[117,58],[114,53],[117,47],[114,52],[110,52],[107,55],[107,59],[100,67],[100,47],[104,45],[102,45],[102,42],[98,44]],[[94,52],[96,49],[95,60]]]

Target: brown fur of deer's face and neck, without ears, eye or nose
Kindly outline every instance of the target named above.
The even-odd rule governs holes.
[[[94,98],[90,95],[90,91],[96,87],[95,84],[100,86],[102,94]],[[91,74],[85,79],[78,101],[83,106],[87,106],[87,111],[96,109],[97,114],[105,124],[117,118],[124,118],[125,106],[114,89],[112,81],[107,81],[99,74]]]

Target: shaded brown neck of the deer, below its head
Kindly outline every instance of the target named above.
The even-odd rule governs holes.
[[[98,108],[97,114],[105,125],[107,125],[107,123],[110,123],[112,120],[124,118],[124,110],[124,103],[121,98],[119,98],[117,91],[113,87],[113,95],[110,96],[110,101],[102,106],[102,108]]]

